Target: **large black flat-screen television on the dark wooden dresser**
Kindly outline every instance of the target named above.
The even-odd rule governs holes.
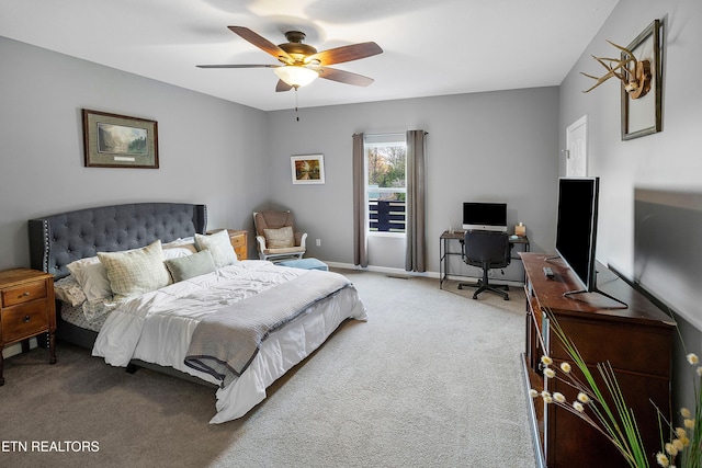
[[[582,289],[565,293],[598,293],[624,306],[597,288],[595,260],[597,244],[599,178],[558,179],[556,253],[573,271]]]

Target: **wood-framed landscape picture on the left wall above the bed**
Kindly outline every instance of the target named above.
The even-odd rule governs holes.
[[[158,169],[158,123],[83,109],[88,168]]]

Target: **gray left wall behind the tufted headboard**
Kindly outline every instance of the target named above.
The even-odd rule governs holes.
[[[0,269],[29,266],[27,219],[133,202],[207,204],[251,228],[268,193],[265,114],[0,37]],[[158,122],[160,169],[83,167],[81,109]]]

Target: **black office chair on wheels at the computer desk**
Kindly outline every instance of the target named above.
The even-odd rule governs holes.
[[[464,286],[477,287],[478,289],[473,294],[474,299],[477,299],[478,294],[484,290],[489,290],[502,296],[505,300],[509,300],[509,294],[507,294],[509,286],[491,286],[488,282],[489,270],[503,269],[509,265],[512,260],[507,232],[466,231],[462,256],[466,264],[483,269],[483,279],[478,279],[476,284],[461,283],[458,284],[458,289],[463,289]],[[502,272],[502,274],[505,274],[505,272]]]

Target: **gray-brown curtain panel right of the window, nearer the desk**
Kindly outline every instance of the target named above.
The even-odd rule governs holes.
[[[405,270],[408,272],[427,271],[426,136],[424,130],[407,132],[407,224],[405,228],[407,253]]]

